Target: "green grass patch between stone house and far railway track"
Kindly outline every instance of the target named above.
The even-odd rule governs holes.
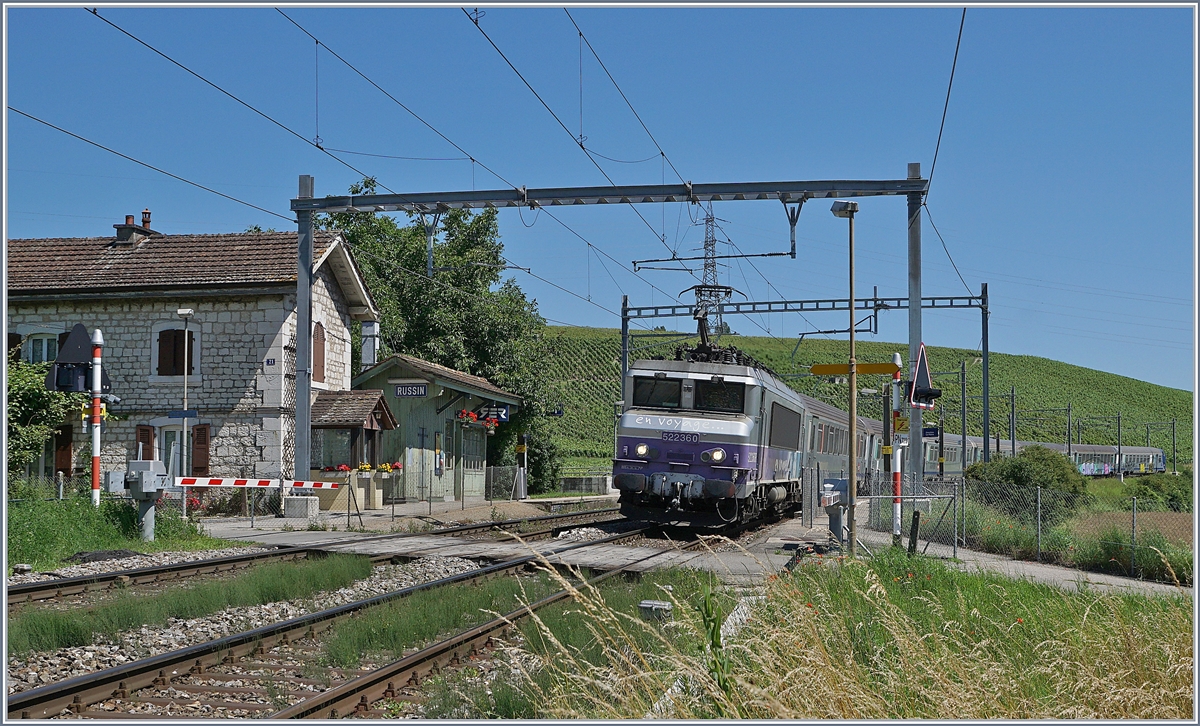
[[[77,552],[95,550],[217,550],[236,546],[205,535],[178,510],[160,509],[155,516],[155,541],[142,541],[137,510],[121,499],[91,504],[90,494],[59,500],[26,498],[7,503],[8,562],[50,570]]]

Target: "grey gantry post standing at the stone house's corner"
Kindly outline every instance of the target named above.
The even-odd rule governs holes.
[[[300,175],[301,199],[312,198],[313,179]],[[296,212],[296,416],[293,479],[308,479],[312,436],[312,212]],[[281,473],[282,474],[282,473]],[[286,479],[286,478],[284,478]],[[287,497],[288,486],[282,487]],[[281,511],[282,514],[282,511]]]

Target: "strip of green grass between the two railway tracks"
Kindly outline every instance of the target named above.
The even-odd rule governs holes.
[[[8,619],[8,654],[86,646],[140,625],[162,625],[169,618],[198,618],[247,605],[311,598],[346,587],[371,574],[361,556],[331,554],[299,563],[258,565],[232,580],[200,582],[154,595],[122,594],[77,611],[32,610]]]

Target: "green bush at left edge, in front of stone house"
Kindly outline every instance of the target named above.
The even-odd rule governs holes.
[[[86,401],[84,394],[64,394],[46,389],[50,364],[29,364],[8,358],[8,474],[22,472],[36,461],[54,430],[77,413]]]

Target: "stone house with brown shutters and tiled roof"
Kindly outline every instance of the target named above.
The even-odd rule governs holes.
[[[120,403],[108,404],[103,470],[169,461],[181,422],[191,426],[191,474],[290,478],[295,448],[296,233],[167,235],[127,216],[116,235],[8,240],[8,348],[53,360],[76,323],[104,334],[103,366]],[[313,239],[313,383],[350,389],[350,330],[379,311],[346,240]],[[191,366],[184,395],[184,319]],[[64,426],[31,475],[84,470],[82,421]],[[301,476],[302,478],[302,476]]]

